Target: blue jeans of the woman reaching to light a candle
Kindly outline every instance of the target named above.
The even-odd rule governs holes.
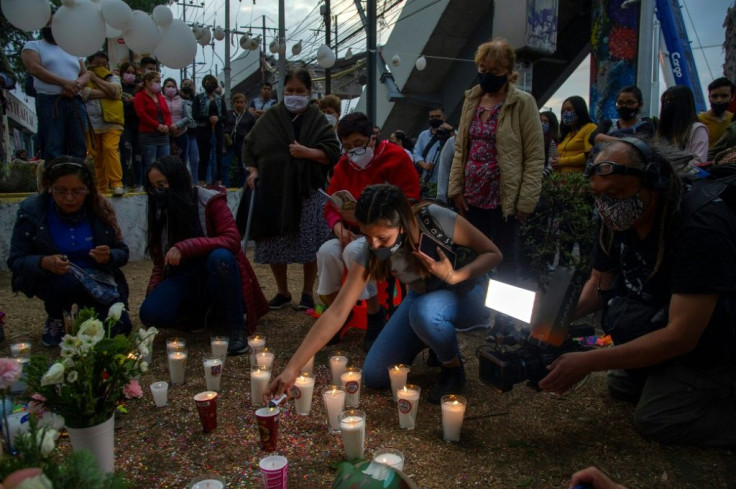
[[[424,348],[431,348],[440,362],[460,354],[455,327],[477,324],[487,316],[484,307],[486,279],[475,279],[469,292],[435,290],[426,294],[409,291],[399,308],[378,335],[363,362],[363,382],[367,387],[389,387],[388,367],[411,365]]]

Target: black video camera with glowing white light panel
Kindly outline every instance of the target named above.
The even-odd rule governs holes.
[[[537,384],[548,373],[547,365],[563,353],[588,349],[572,338],[591,336],[593,328],[570,326],[586,279],[580,271],[558,267],[545,277],[539,294],[491,280],[486,306],[530,323],[531,328],[492,331],[490,344],[476,352],[481,382],[499,392],[508,392],[525,380],[538,389]],[[518,306],[524,312],[520,313]]]

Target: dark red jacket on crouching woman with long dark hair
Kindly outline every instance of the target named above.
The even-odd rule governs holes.
[[[227,206],[227,196],[213,190],[197,187],[200,215],[204,207],[206,236],[185,239],[174,246],[181,252],[182,259],[203,256],[216,248],[224,248],[235,255],[240,268],[243,289],[243,304],[247,314],[248,334],[255,331],[258,319],[268,312],[268,302],[263,295],[256,274],[240,247],[240,233]],[[164,255],[161,246],[153,253],[153,271],[148,281],[146,294],[150,293],[163,280]]]

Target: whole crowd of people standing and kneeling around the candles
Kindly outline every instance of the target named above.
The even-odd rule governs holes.
[[[153,271],[143,324],[181,327],[219,314],[229,353],[241,354],[268,309],[296,302],[287,272],[300,264],[296,308],[314,307],[315,282],[328,307],[269,395],[288,392],[309,358],[339,341],[362,299],[364,384],[387,388],[389,365],[411,364],[429,348],[440,374],[428,398],[438,403],[464,387],[456,335],[487,321],[487,278],[518,280],[519,228],[543,179],[577,172],[590,180],[600,219],[576,315],[602,309],[615,345],[558,357],[539,386],[564,393],[605,370],[612,395],[636,404],[635,426],[647,437],[736,447],[736,216],[721,199],[683,212],[692,192],[680,178],[712,159],[714,148],[721,162],[731,161],[723,154],[733,144],[723,141],[736,134],[726,110],[734,85],[725,78],[709,86],[711,109],[700,115],[689,89],[678,86],[662,95],[658,117],[643,117],[642,93],[629,86],[618,93],[614,120],[595,124],[578,96],[563,102],[558,119],[516,87],[514,50],[493,39],[476,51],[478,83],[465,92],[457,127],[442,107],[430,107],[416,141],[398,129],[383,140],[365,114],[341,116],[339,98],[314,101],[305,69],[286,74],[282,100],[263,84],[249,107],[232,94],[231,110],[213,76],[198,94],[190,80],[177,89],[171,79],[162,93],[155,60],[142,60],[140,79],[133,65],[121,66],[121,82],[103,55],[86,66],[68,56],[48,63],[61,56],[48,33],[27,46],[24,61],[39,82],[45,191],[21,205],[8,265],[14,290],[44,301],[44,344],[58,344],[72,303],[127,301],[121,267],[128,250],[102,197],[121,186],[113,168],[121,160],[106,152],[117,154],[124,140],[122,160],[134,168],[128,185],[148,195]],[[52,111],[62,102],[71,114],[90,113],[93,170],[82,159],[76,119]],[[254,193],[250,238],[255,261],[275,279],[270,300],[241,250],[224,194],[207,182]],[[349,205],[331,198],[341,191],[353,197]],[[408,289],[390,317],[376,299],[383,280]],[[130,330],[127,316],[117,327]]]

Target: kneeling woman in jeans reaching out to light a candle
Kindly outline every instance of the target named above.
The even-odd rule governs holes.
[[[388,367],[411,364],[425,347],[442,363],[439,381],[430,390],[430,402],[439,403],[465,384],[456,328],[477,324],[487,315],[484,274],[501,261],[501,253],[465,218],[437,205],[429,205],[429,218],[459,246],[470,248],[475,258],[453,268],[438,250],[436,261],[419,251],[422,228],[420,209],[412,209],[402,191],[393,185],[367,187],[358,199],[355,217],[366,237],[366,246],[349,268],[335,301],[317,320],[284,371],[271,383],[270,395],[291,388],[299,369],[340,329],[369,279],[387,272],[409,288],[407,297],[380,333],[363,364],[367,387],[390,386]],[[425,216],[426,217],[426,214]],[[424,218],[423,217],[423,218]]]

